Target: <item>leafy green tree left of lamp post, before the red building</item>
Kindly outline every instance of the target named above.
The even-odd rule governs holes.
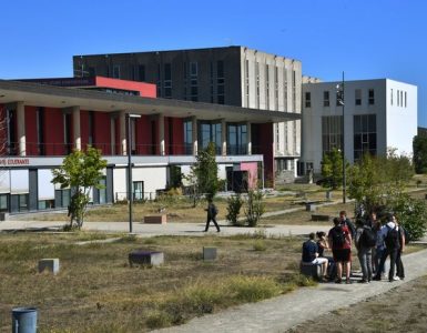
[[[52,183],[60,184],[61,189],[71,188],[73,195],[69,206],[70,228],[81,229],[89,203],[89,193],[92,188],[102,189],[100,181],[102,170],[106,168],[106,160],[101,157],[101,151],[89,147],[87,152],[74,150],[53,169]]]

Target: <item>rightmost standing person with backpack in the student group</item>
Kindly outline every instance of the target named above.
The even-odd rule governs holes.
[[[379,262],[378,271],[375,274],[373,280],[376,280],[376,281],[382,280],[380,272],[384,269],[384,264],[387,260],[387,256],[390,256],[390,269],[388,271],[388,281],[394,282],[394,281],[400,280],[398,276],[395,276],[396,258],[397,258],[397,252],[400,249],[399,231],[398,231],[399,228],[396,223],[396,216],[394,214],[388,214],[387,221],[388,221],[387,224],[382,228],[385,250],[383,252],[383,255]]]

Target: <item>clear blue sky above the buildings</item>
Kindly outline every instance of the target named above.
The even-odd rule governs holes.
[[[424,0],[4,0],[0,79],[71,77],[72,56],[245,46],[324,81],[418,85],[427,127]]]

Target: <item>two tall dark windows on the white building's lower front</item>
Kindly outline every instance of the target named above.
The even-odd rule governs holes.
[[[353,150],[354,160],[359,160],[363,154],[377,152],[376,114],[360,114],[353,117]],[[322,151],[343,149],[343,117],[322,117]]]

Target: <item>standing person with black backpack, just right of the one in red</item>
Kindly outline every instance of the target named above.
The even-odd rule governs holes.
[[[372,249],[375,246],[376,242],[376,232],[362,220],[357,220],[355,244],[363,274],[362,280],[358,281],[359,283],[369,283],[373,278]]]

